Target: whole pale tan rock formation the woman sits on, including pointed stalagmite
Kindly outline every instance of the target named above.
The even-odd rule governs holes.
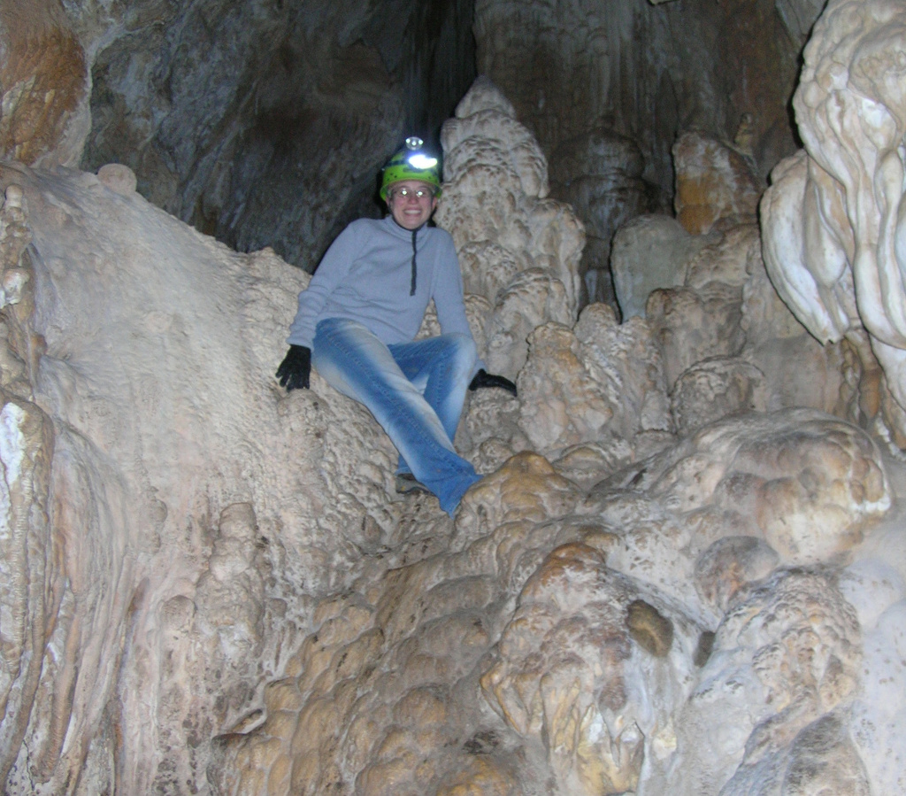
[[[906,478],[858,361],[747,218],[644,316],[580,312],[583,225],[513,106],[480,80],[443,139],[519,385],[470,397],[455,519],[394,493],[361,406],[275,383],[304,273],[123,167],[0,170],[6,791],[902,791]]]

